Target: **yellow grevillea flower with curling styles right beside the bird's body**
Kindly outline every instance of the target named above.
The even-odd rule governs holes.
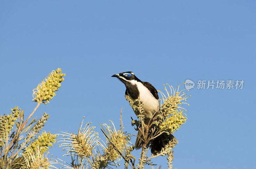
[[[164,95],[163,92],[159,91],[162,95],[161,110],[159,115],[159,116],[162,116],[161,117],[162,123],[160,123],[158,126],[160,130],[169,131],[173,134],[176,130],[180,128],[182,124],[186,123],[187,117],[186,117],[186,114],[183,113],[183,110],[185,111],[187,110],[182,108],[181,106],[183,103],[185,103],[182,101],[183,100],[186,101],[188,97],[184,92],[182,92],[187,89],[181,90],[179,92],[180,86],[177,86],[174,90],[172,86],[170,86],[169,84],[167,85],[171,89],[171,94],[169,91],[167,91],[166,87],[164,90],[166,90],[167,92],[167,97]],[[188,103],[185,103],[185,104],[188,104]]]

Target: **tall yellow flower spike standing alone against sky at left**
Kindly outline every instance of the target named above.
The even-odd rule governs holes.
[[[35,89],[33,89],[34,102],[49,103],[53,96],[56,95],[55,91],[58,91],[61,82],[64,81],[63,76],[66,74],[61,73],[61,69],[53,70],[48,77],[46,77],[42,83],[39,83]]]

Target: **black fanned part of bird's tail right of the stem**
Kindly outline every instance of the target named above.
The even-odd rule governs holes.
[[[160,136],[154,138],[150,144],[151,153],[154,155],[160,153],[162,148],[164,148],[164,146],[172,140],[175,140],[178,144],[178,140],[171,133],[169,135],[167,133],[163,133]]]

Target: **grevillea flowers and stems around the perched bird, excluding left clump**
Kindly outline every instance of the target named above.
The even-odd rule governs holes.
[[[80,124],[77,134],[62,132],[63,138],[59,141],[61,142],[60,146],[64,146],[63,151],[66,152],[64,155],[71,157],[71,163],[60,159],[65,163],[62,163],[62,165],[66,168],[104,169],[119,166],[118,162],[123,158],[125,168],[130,166],[133,169],[140,169],[144,168],[145,165],[153,166],[154,164],[151,161],[153,158],[167,156],[168,167],[172,168],[172,149],[177,144],[176,139],[169,140],[168,144],[159,153],[153,153],[151,157],[148,157],[147,153],[154,138],[163,133],[173,134],[182,124],[186,123],[187,117],[181,106],[184,103],[183,100],[186,101],[188,97],[184,92],[180,95],[182,91],[179,92],[179,87],[177,86],[174,90],[171,86],[171,95],[167,92],[167,97],[160,92],[163,96],[161,108],[159,113],[150,119],[151,123],[149,122],[148,125],[144,123],[143,102],[140,100],[133,102],[128,95],[125,95],[132,109],[138,114],[138,120],[132,120],[132,125],[136,125],[137,130],[141,130],[144,141],[140,158],[137,161],[134,155],[131,154],[134,150],[134,146],[130,142],[132,136],[123,131],[121,110],[121,128],[119,130],[116,130],[112,121],[110,121],[111,124],[100,125],[101,131],[105,135],[104,140],[98,137],[99,133],[94,131],[95,127],[90,127],[90,123],[85,124],[82,128],[84,120]],[[165,90],[167,89],[165,88]]]

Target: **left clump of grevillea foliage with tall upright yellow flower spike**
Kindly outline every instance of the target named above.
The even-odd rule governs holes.
[[[56,142],[57,135],[42,132],[49,115],[44,113],[40,119],[32,118],[41,103],[47,104],[56,95],[65,74],[61,69],[53,70],[48,77],[33,90],[33,101],[37,105],[28,118],[24,119],[24,110],[11,109],[8,115],[0,116],[0,168],[49,168],[54,161],[47,158],[47,150]]]

